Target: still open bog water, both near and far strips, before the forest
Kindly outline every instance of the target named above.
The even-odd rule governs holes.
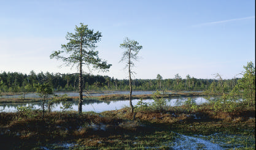
[[[153,91],[134,91],[133,95],[140,95],[140,94],[152,94]],[[63,95],[65,92],[57,92],[55,94]],[[78,93],[75,92],[68,92],[66,93],[68,96],[79,96]],[[101,93],[93,93],[90,94],[91,96],[102,96],[107,94],[129,94],[129,91],[115,91],[115,92],[101,92]],[[2,96],[4,98],[10,99],[10,98],[18,98],[21,97],[20,95],[15,96]],[[26,98],[37,98],[37,94],[26,94]],[[1,97],[0,97],[1,98]],[[179,106],[183,105],[185,100],[187,100],[188,97],[177,97],[172,99],[167,99],[167,104],[169,106]],[[196,102],[197,104],[208,102],[208,100],[204,99],[203,97],[192,97],[192,100]],[[139,99],[133,99],[132,100],[133,105],[136,105],[139,102]],[[143,102],[146,103],[152,103],[153,99],[145,99]],[[71,110],[78,110],[78,102],[72,101]],[[41,108],[42,102],[30,102],[30,103],[1,103],[0,104],[0,112],[15,112],[17,111],[17,107],[27,107],[32,106],[35,109]],[[108,102],[103,102],[95,99],[87,100],[85,99],[83,101],[82,110],[85,111],[95,111],[96,113],[101,113],[103,111],[109,111],[109,110],[120,110],[123,107],[129,107],[130,102],[129,100],[111,100]],[[61,107],[63,107],[63,103],[58,103],[53,106],[52,111],[61,111]]]

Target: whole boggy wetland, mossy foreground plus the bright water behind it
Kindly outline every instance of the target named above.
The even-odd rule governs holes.
[[[96,97],[113,94],[120,93]],[[71,109],[61,111],[59,103],[44,119],[40,100],[1,103],[1,148],[255,149],[255,108],[246,102],[228,111],[215,108],[214,97],[179,96],[165,98],[165,108],[158,110],[153,99],[133,99],[134,105],[144,104],[136,105],[134,119],[128,100],[85,100],[78,114],[74,97]]]

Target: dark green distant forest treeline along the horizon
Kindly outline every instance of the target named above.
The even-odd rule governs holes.
[[[187,75],[182,79],[176,74],[173,79],[134,79],[133,89],[150,90],[186,90],[228,92],[235,87],[239,78],[222,80],[196,79]],[[18,72],[0,73],[0,92],[35,92],[36,84],[49,83],[54,91],[76,91],[79,86],[78,74],[35,73],[27,75]],[[118,80],[108,76],[83,74],[83,86],[88,90],[129,90],[129,80]]]

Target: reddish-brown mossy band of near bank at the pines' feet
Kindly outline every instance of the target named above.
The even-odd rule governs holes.
[[[0,132],[3,133],[0,138],[9,137],[5,138],[6,140],[17,138],[21,143],[30,142],[29,144],[38,141],[48,143],[72,140],[83,146],[97,147],[132,143],[131,141],[134,140],[132,138],[137,135],[154,130],[211,134],[227,130],[236,133],[238,128],[250,132],[255,129],[253,117],[255,110],[241,109],[231,113],[203,108],[188,112],[182,107],[169,108],[162,112],[138,111],[134,122],[130,108],[105,111],[100,114],[52,112],[45,114],[45,119],[41,119],[41,115],[39,113],[37,117],[30,118],[20,116],[20,119],[17,119],[17,113],[0,113]],[[194,115],[201,119],[193,118]],[[106,130],[94,130],[91,124],[104,125]],[[255,133],[255,130],[252,132]]]

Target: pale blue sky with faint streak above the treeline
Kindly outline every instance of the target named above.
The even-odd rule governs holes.
[[[142,45],[133,78],[241,77],[255,64],[254,0],[0,0],[0,73],[76,73],[50,54],[80,23],[102,33],[96,50],[112,64],[93,75],[128,78],[125,37]]]

